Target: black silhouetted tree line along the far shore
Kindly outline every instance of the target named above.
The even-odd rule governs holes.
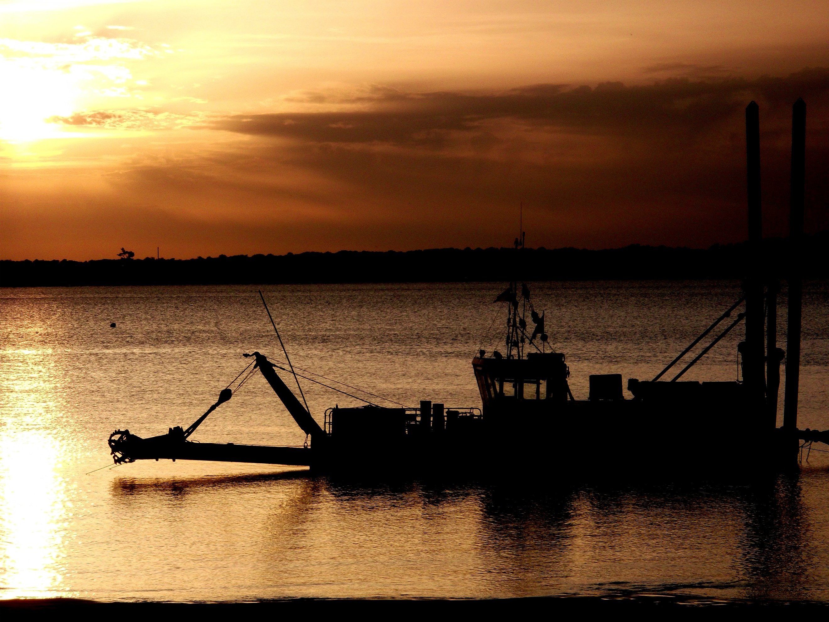
[[[768,239],[764,244],[768,273],[784,275],[786,241]],[[802,254],[804,276],[829,277],[829,231],[807,236]],[[341,250],[191,260],[5,260],[0,261],[0,286],[739,279],[746,270],[744,243],[709,249]]]

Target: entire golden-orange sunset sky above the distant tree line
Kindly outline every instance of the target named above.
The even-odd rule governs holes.
[[[807,101],[829,226],[829,2],[0,0],[0,259],[784,235]]]

